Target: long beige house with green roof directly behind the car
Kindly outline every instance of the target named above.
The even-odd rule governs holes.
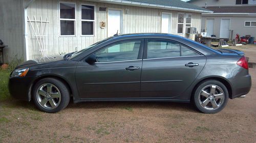
[[[0,1],[0,39],[5,61],[30,60],[86,48],[114,34],[201,31],[210,10],[179,0]]]

